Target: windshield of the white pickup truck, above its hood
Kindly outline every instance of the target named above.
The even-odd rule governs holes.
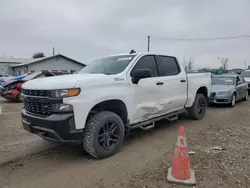
[[[112,57],[103,57],[93,61],[84,67],[79,73],[92,74],[119,74],[128,66],[135,55],[120,55]]]

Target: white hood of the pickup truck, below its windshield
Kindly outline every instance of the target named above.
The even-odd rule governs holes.
[[[76,84],[92,85],[94,82],[103,82],[110,79],[110,76],[104,74],[70,74],[62,76],[53,76],[47,78],[37,78],[27,81],[23,84],[23,89],[67,89],[74,88]]]

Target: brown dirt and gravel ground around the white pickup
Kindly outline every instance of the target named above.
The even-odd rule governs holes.
[[[22,148],[27,149],[30,142],[27,144],[25,140],[32,143],[36,139],[35,146],[34,142],[32,145],[35,149],[50,146],[22,130],[20,104],[0,102],[0,106],[3,105],[1,147],[21,144],[10,147],[8,152],[0,149],[0,156],[13,157]],[[196,152],[190,156],[191,166],[196,171],[196,187],[250,187],[249,113],[250,101],[238,103],[233,109],[210,108],[201,121],[186,118],[171,123],[163,121],[149,131],[133,132],[126,138],[121,151],[105,160],[94,160],[77,146],[56,146],[0,164],[0,187],[186,187],[166,182],[179,125],[185,126],[189,150]],[[223,150],[214,150],[215,146]]]

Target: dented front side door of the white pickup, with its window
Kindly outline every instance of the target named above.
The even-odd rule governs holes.
[[[138,83],[131,83],[133,87],[133,104],[131,124],[146,121],[159,116],[159,103],[163,94],[162,79],[159,77],[156,60],[154,55],[141,57],[132,68],[129,78],[133,77],[136,70],[150,70],[151,77],[140,79]]]

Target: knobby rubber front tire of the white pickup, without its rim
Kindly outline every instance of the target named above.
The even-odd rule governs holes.
[[[110,150],[105,150],[98,142],[98,133],[102,126],[109,121],[113,121],[117,124],[118,129],[121,131],[121,134],[118,139],[119,141],[117,145]],[[84,150],[94,158],[107,158],[119,151],[124,139],[124,134],[125,128],[120,116],[113,112],[102,111],[89,118],[85,127],[82,146]]]

